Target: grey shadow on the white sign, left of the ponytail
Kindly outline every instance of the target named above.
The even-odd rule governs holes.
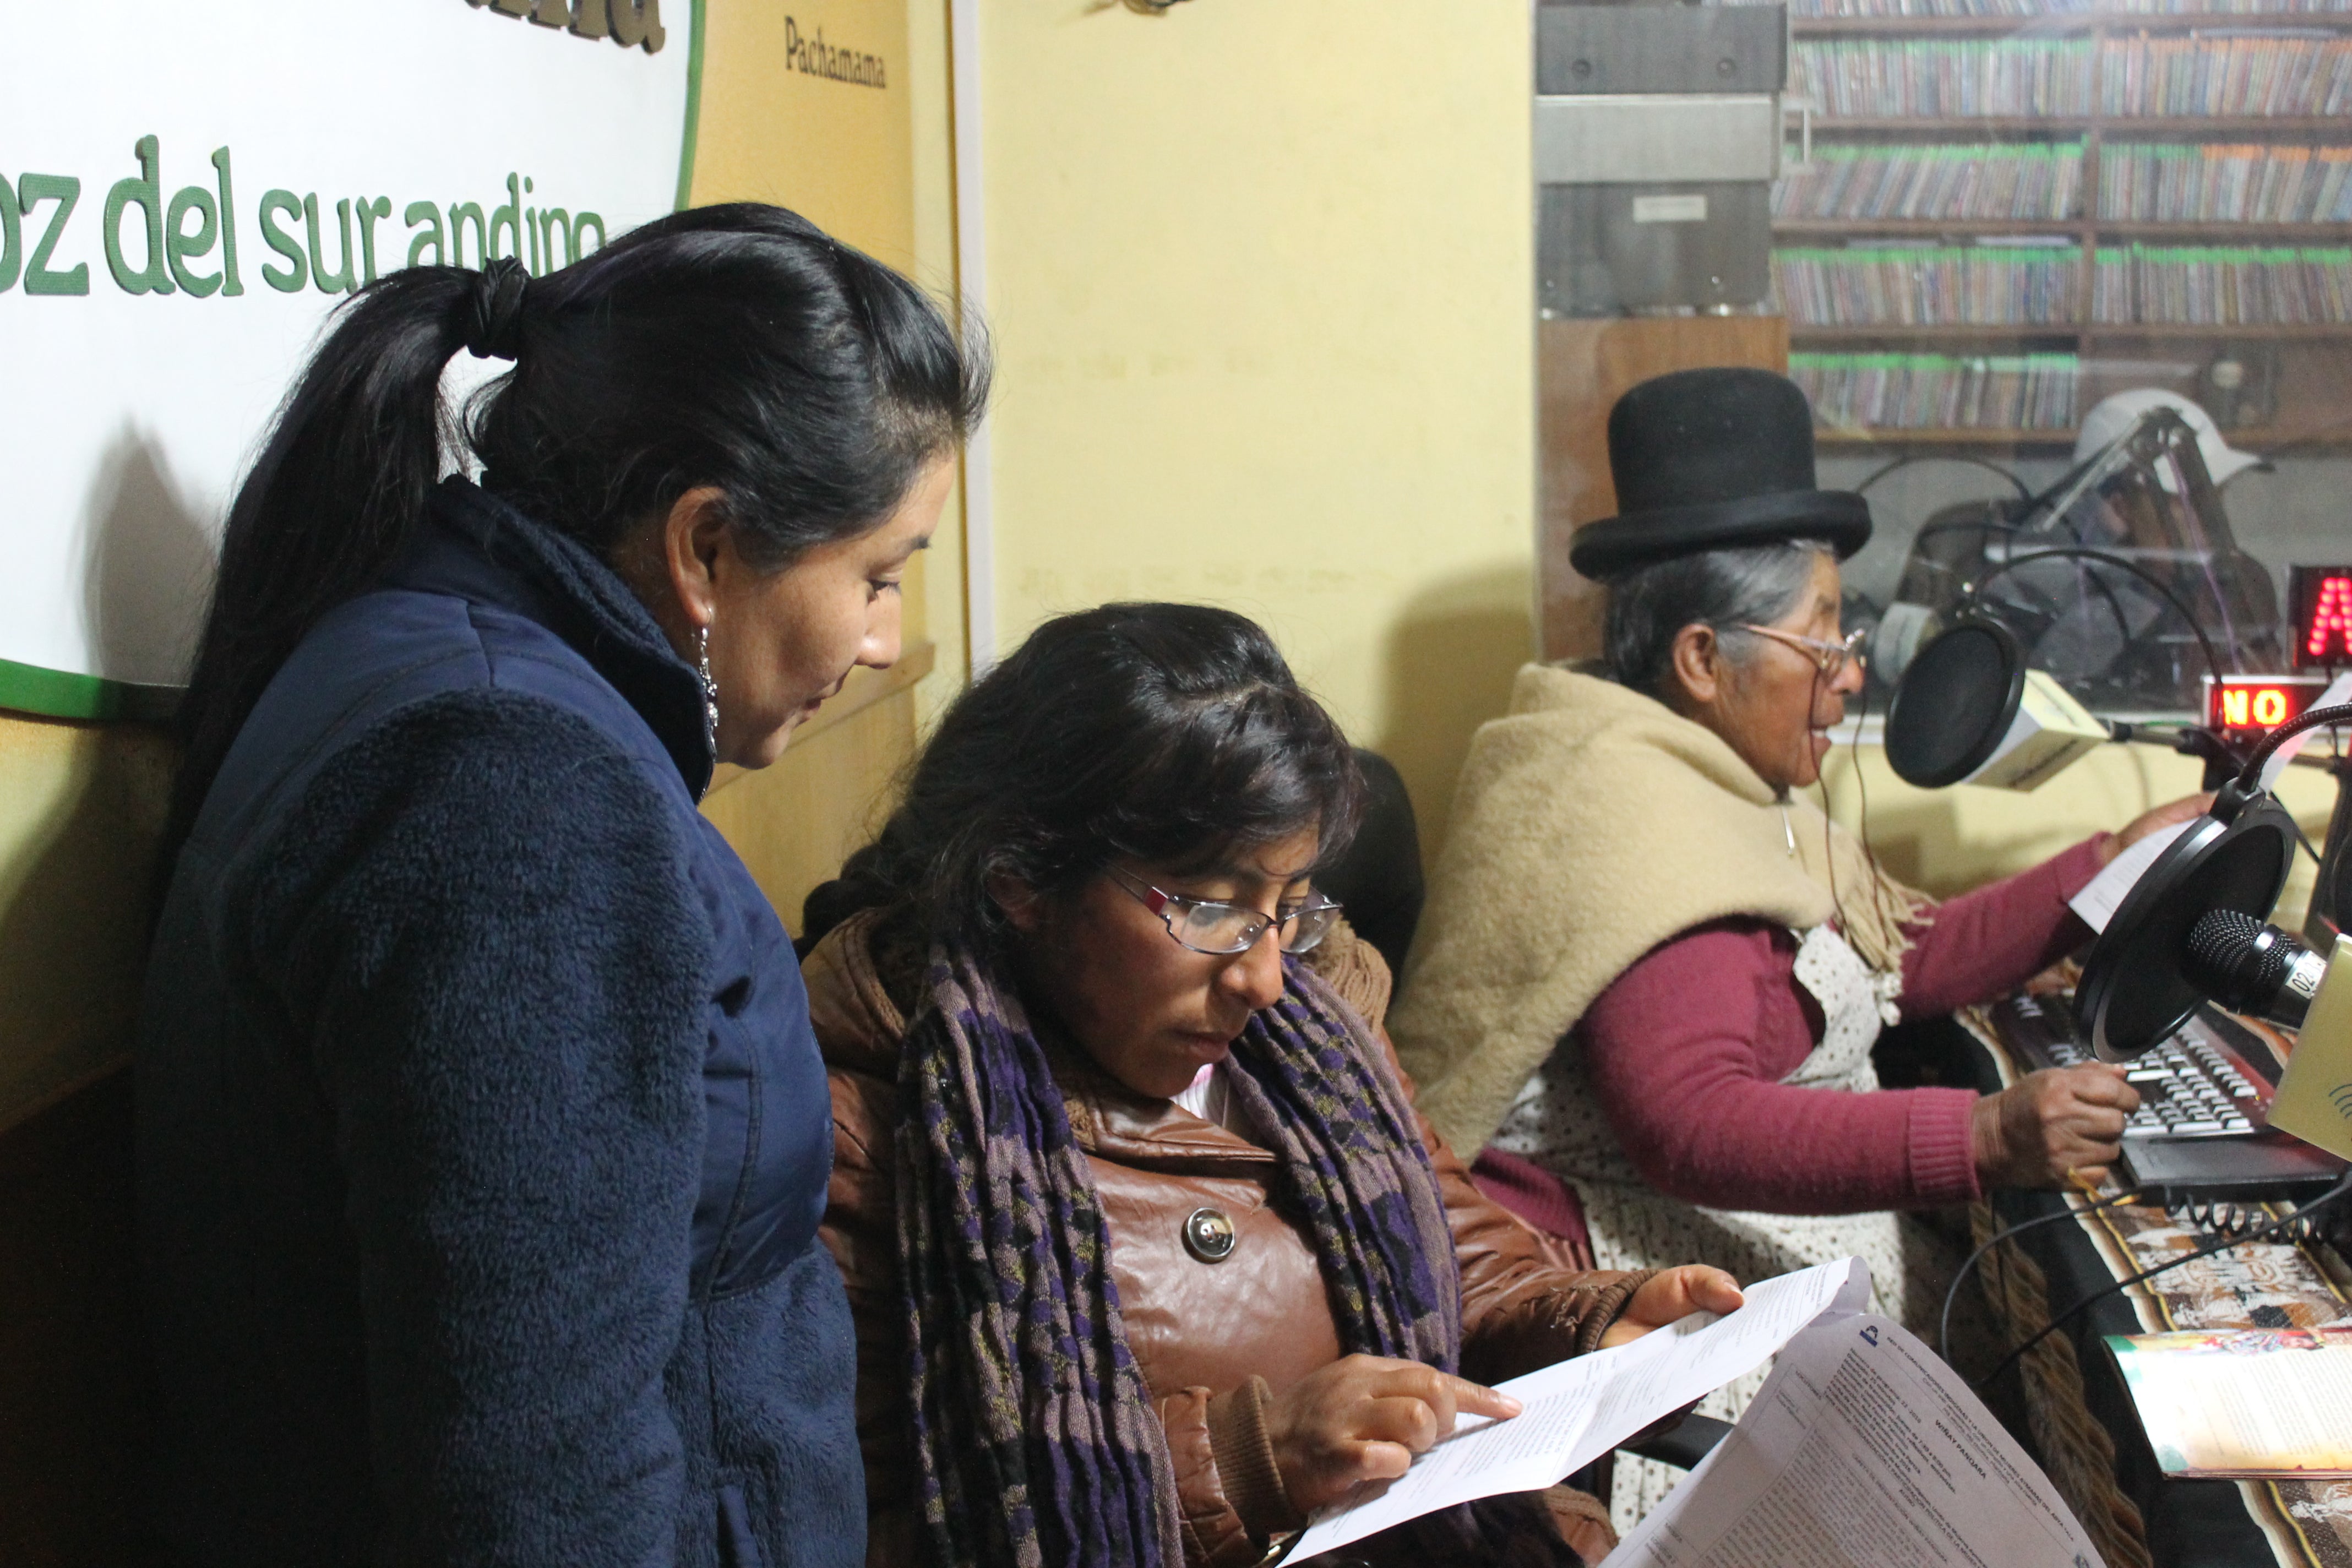
[[[212,599],[214,538],[153,435],[129,425],[115,435],[85,517],[82,625],[99,675],[186,684]]]

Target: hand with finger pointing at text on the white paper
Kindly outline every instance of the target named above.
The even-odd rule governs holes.
[[[1395,1481],[1456,1415],[1517,1415],[1519,1401],[1388,1356],[1341,1356],[1265,1406],[1282,1490],[1301,1514],[1341,1502],[1371,1481]]]

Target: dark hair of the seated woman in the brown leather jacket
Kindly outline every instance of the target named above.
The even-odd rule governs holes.
[[[884,910],[882,943],[995,952],[995,877],[1068,898],[1122,858],[1207,870],[1317,830],[1336,858],[1364,811],[1355,752],[1272,637],[1204,604],[1047,621],[941,717],[882,835],[802,905],[802,947]]]

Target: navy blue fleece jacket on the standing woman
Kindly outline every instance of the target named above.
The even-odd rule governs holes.
[[[621,581],[461,480],[273,679],[141,1016],[179,1561],[863,1561],[826,1070],[710,766]]]

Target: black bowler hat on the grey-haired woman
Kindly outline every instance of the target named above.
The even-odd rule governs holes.
[[[1590,578],[1788,538],[1820,538],[1839,559],[1870,543],[1867,501],[1813,489],[1813,409],[1769,369],[1682,369],[1618,397],[1609,477],[1618,515],[1569,548]]]

